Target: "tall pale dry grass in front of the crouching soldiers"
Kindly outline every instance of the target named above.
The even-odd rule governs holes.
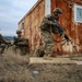
[[[20,54],[14,54],[12,51],[12,48],[10,47],[8,51],[3,55],[3,60],[5,63],[9,63],[10,66],[12,65],[27,65],[30,61],[28,55],[26,56],[21,56]]]

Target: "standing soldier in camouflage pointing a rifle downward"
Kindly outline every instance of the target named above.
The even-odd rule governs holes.
[[[54,10],[52,15],[48,14],[43,19],[39,28],[45,45],[40,47],[42,51],[40,54],[44,54],[46,56],[51,55],[50,51],[52,50],[52,47],[55,45],[55,39],[52,38],[52,34],[58,34],[59,36],[63,36],[67,39],[67,42],[70,40],[69,37],[65,34],[65,30],[58,23],[59,16],[61,14],[62,10],[56,8]]]

